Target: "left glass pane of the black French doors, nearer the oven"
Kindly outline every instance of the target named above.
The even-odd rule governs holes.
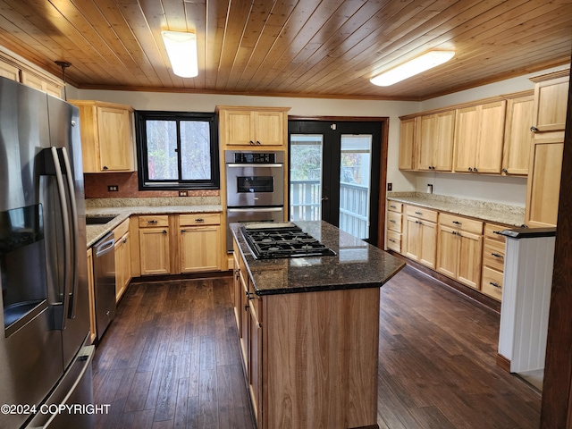
[[[322,219],[323,154],[323,135],[290,135],[290,221]]]

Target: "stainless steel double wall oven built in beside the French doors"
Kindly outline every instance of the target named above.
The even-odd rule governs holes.
[[[227,225],[284,220],[284,152],[224,152]],[[227,227],[228,228],[228,227]],[[226,234],[232,250],[232,234]]]

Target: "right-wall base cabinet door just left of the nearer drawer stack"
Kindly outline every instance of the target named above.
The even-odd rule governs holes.
[[[481,261],[483,236],[467,231],[459,231],[457,280],[474,289],[481,283]]]

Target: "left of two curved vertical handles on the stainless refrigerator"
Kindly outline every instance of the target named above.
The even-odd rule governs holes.
[[[68,215],[67,198],[65,197],[65,188],[63,186],[62,164],[60,164],[60,157],[56,147],[50,147],[52,161],[54,163],[55,181],[57,183],[58,195],[60,197],[60,208],[62,210],[62,223],[63,223],[63,299],[62,299],[62,315],[60,318],[61,325],[58,326],[62,331],[65,329],[65,322],[68,314],[69,306],[69,290],[70,290],[70,268],[71,268],[71,251],[70,251],[70,219]],[[57,319],[56,319],[57,321]]]

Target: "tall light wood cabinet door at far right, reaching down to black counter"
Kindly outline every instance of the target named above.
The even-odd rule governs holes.
[[[563,139],[534,140],[526,181],[527,226],[556,226],[563,151]]]

